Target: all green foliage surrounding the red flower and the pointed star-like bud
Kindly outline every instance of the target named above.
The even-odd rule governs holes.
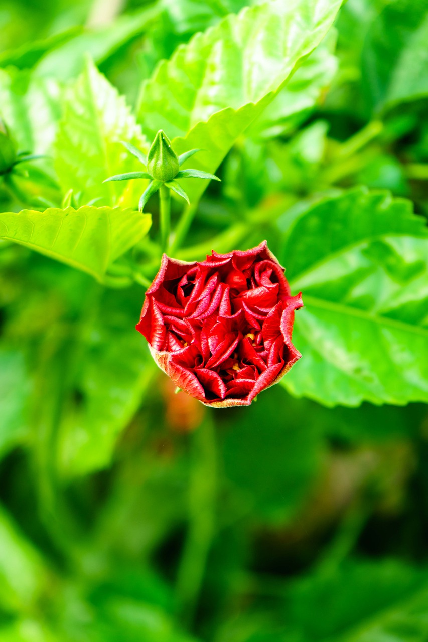
[[[428,8],[339,4],[0,0],[0,116],[44,155],[0,176],[0,642],[428,639]],[[158,128],[222,178],[174,254],[266,238],[303,290],[249,408],[134,330],[157,202],[102,181]]]

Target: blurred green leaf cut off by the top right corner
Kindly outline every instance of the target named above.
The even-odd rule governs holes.
[[[376,110],[428,96],[428,7],[424,0],[386,4],[368,32],[362,78]]]

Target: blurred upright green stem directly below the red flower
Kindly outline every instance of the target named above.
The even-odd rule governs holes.
[[[197,607],[214,530],[217,472],[212,412],[206,412],[192,435],[193,465],[188,495],[190,523],[176,584],[177,605],[183,623],[188,627]]]

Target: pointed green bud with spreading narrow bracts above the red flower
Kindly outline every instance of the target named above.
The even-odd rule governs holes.
[[[132,178],[148,178],[150,183],[139,199],[138,209],[143,211],[150,196],[155,194],[161,186],[175,192],[189,203],[189,198],[183,187],[177,183],[177,178],[206,178],[208,180],[220,180],[214,174],[199,169],[180,169],[181,165],[189,159],[193,154],[201,152],[201,150],[189,150],[177,156],[171,146],[171,141],[168,136],[159,130],[150,150],[148,150],[147,158],[130,143],[122,143],[127,150],[135,156],[147,171],[129,171],[123,174],[116,174],[104,180],[105,183],[111,180],[130,180]]]

